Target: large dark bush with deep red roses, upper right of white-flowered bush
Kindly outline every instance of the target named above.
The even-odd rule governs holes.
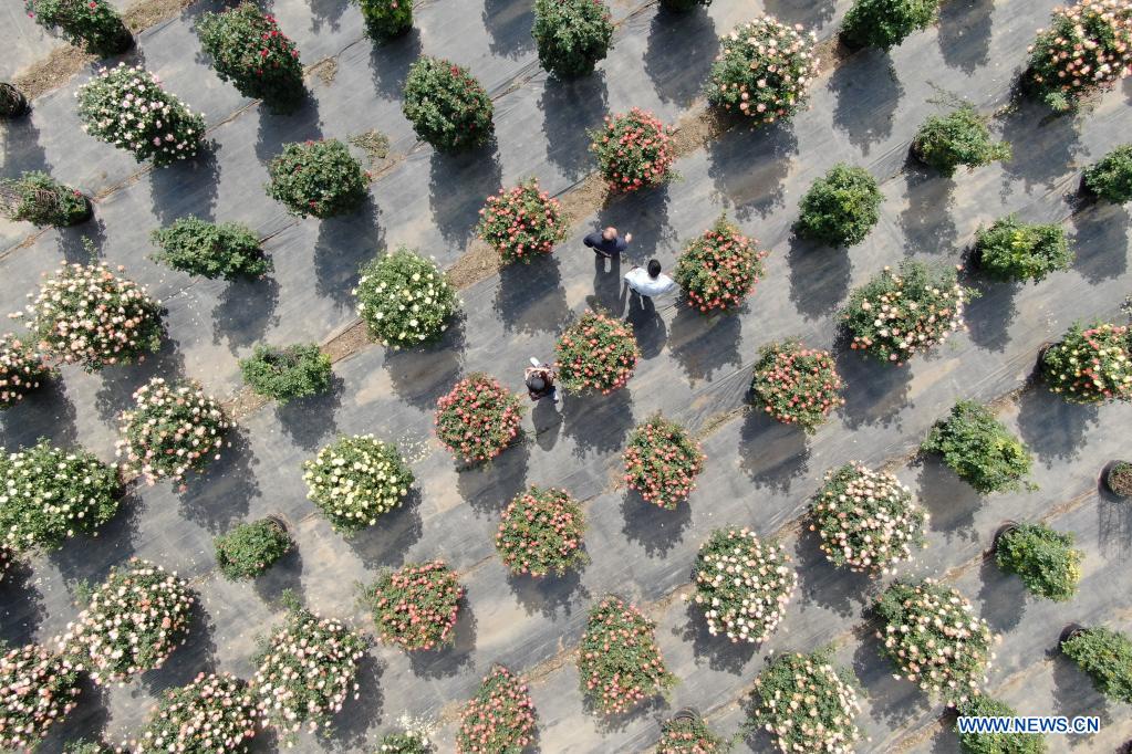
[[[263,99],[275,112],[294,112],[302,103],[299,47],[280,31],[275,18],[245,0],[197,21],[200,46],[216,75],[246,97]]]

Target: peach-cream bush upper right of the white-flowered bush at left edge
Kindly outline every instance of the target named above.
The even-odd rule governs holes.
[[[134,408],[122,411],[118,454],[125,468],[156,484],[183,482],[220,458],[232,427],[224,409],[192,380],[168,384],[154,378],[134,391]]]

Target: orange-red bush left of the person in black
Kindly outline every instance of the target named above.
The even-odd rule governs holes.
[[[566,220],[558,200],[531,179],[488,197],[475,232],[505,263],[530,263],[566,240]]]

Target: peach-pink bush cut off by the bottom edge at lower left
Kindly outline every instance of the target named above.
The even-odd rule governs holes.
[[[228,673],[197,674],[186,686],[166,690],[149,714],[132,754],[250,749],[256,735],[255,699],[248,684]]]

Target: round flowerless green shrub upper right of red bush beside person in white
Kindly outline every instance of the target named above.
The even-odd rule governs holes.
[[[883,199],[868,171],[838,163],[801,198],[795,233],[831,246],[852,246],[876,225]]]

